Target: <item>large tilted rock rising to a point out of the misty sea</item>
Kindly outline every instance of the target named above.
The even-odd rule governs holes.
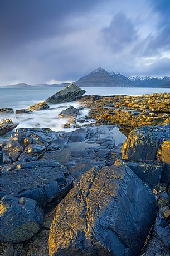
[[[85,94],[85,90],[82,90],[79,86],[71,83],[61,91],[49,97],[46,102],[49,103],[62,103],[66,101],[75,101],[80,99]]]

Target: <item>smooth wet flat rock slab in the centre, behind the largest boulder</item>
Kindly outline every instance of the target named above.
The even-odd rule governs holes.
[[[66,166],[74,178],[94,166],[103,167],[115,146],[114,126],[80,128],[52,142],[43,159],[55,159]]]

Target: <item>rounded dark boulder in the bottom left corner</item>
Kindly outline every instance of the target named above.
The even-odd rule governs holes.
[[[43,211],[26,197],[4,196],[0,204],[0,241],[18,243],[30,239],[43,225]]]

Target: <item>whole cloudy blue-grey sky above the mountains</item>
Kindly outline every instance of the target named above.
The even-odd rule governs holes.
[[[0,0],[0,85],[170,75],[169,0]]]

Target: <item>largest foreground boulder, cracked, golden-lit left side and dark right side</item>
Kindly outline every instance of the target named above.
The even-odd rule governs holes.
[[[129,167],[93,168],[56,208],[50,256],[136,256],[155,215],[152,191]]]

